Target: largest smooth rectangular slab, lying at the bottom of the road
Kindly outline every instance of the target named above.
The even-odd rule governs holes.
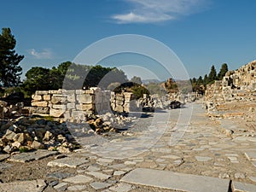
[[[121,181],[186,192],[228,192],[230,183],[228,179],[143,168],[131,171]]]

